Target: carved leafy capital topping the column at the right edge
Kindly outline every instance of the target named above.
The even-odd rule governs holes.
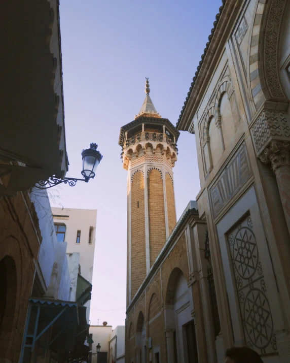
[[[290,166],[290,142],[271,140],[259,158],[264,163],[271,163],[274,172],[278,168]]]

